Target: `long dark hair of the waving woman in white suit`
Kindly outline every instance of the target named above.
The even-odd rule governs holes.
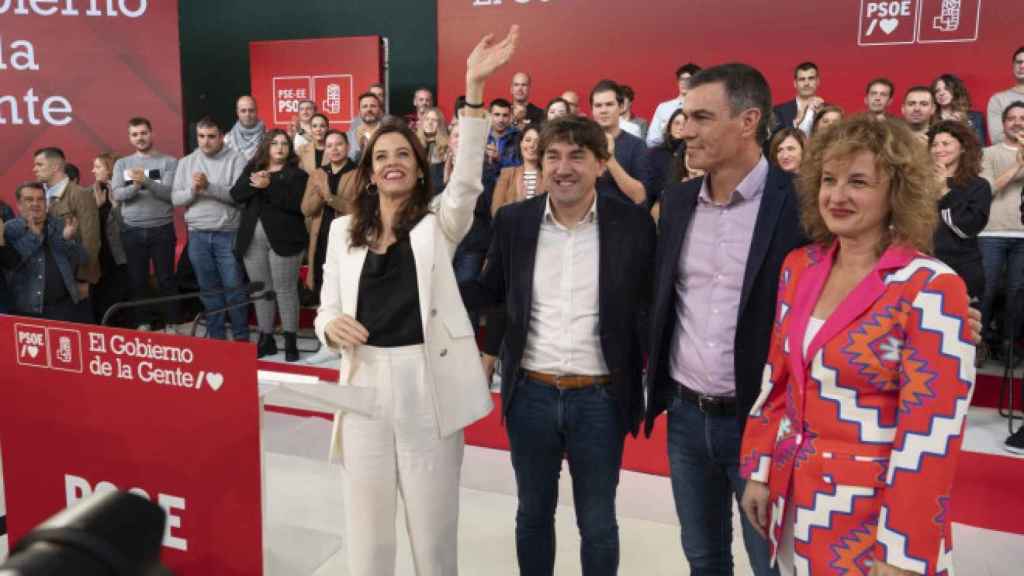
[[[430,178],[430,164],[427,162],[427,153],[420,143],[420,138],[409,129],[409,126],[400,118],[388,118],[384,120],[377,131],[374,132],[370,142],[367,143],[362,157],[359,158],[359,165],[355,174],[355,198],[352,200],[352,224],[351,239],[352,246],[373,246],[384,235],[383,222],[381,221],[380,197],[377,194],[377,187],[371,180],[374,173],[374,148],[377,140],[384,134],[399,134],[406,138],[413,155],[416,157],[416,164],[420,168],[422,177],[417,179],[417,184],[409,199],[402,204],[401,209],[395,217],[392,231],[398,240],[409,236],[416,224],[420,223],[430,212],[430,199],[434,197],[433,183]]]

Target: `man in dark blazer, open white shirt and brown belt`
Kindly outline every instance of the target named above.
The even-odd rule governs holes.
[[[610,154],[593,120],[547,123],[538,153],[548,194],[499,210],[486,265],[464,297],[506,307],[502,405],[519,496],[521,574],[554,569],[564,456],[583,574],[611,575],[623,447],[643,410],[654,222],[645,209],[597,194]]]

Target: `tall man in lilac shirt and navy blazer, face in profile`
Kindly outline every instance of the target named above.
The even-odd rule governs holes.
[[[662,199],[645,431],[668,411],[673,494],[693,574],[732,573],[743,424],[760,393],[782,260],[806,242],[793,181],[762,154],[770,110],[764,76],[746,65],[693,76],[684,138],[689,165],[707,175]],[[776,574],[767,542],[742,523],[754,573]]]

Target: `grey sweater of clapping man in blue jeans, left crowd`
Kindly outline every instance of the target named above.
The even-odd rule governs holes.
[[[185,156],[178,162],[174,174],[175,206],[185,207],[185,224],[188,230],[202,232],[233,232],[239,230],[239,205],[231,200],[231,187],[246,167],[246,158],[232,148],[224,146],[214,156],[202,150]],[[208,184],[201,194],[193,187],[193,174],[206,174]]]

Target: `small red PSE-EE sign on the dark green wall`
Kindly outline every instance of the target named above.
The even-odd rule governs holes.
[[[267,128],[285,128],[313,100],[331,127],[348,130],[359,94],[381,81],[379,36],[250,42],[252,92]]]

